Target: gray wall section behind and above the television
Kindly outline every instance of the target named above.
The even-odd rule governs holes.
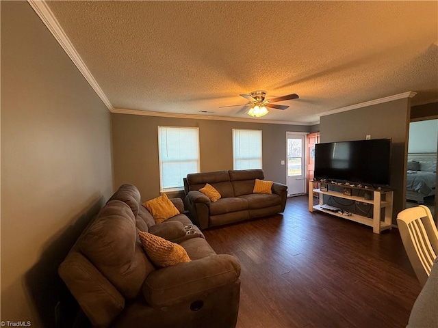
[[[322,116],[320,141],[391,138],[391,189],[394,189],[393,223],[404,208],[409,135],[410,99],[404,98],[352,111]],[[372,156],[372,154],[371,154]]]

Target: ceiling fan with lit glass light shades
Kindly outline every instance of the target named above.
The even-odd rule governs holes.
[[[267,100],[267,99],[265,99],[266,91],[263,91],[263,90],[256,90],[256,91],[250,92],[250,94],[240,94],[239,96],[249,100],[250,102],[248,102],[247,104],[244,104],[244,105],[220,106],[220,108],[222,108],[222,107],[235,107],[235,106],[241,106],[241,107],[242,106],[251,106],[250,109],[248,109],[248,111],[246,111],[245,113],[258,118],[260,116],[263,116],[263,115],[266,115],[267,113],[269,113],[269,110],[266,107],[281,109],[281,110],[285,110],[285,109],[289,108],[289,106],[287,106],[287,105],[276,105],[276,104],[272,104],[272,102],[279,102],[279,101],[292,100],[292,99],[299,98],[298,94],[287,94],[286,96],[276,97],[276,98],[272,98],[272,99]]]

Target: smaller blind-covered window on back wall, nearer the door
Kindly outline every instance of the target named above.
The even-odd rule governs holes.
[[[233,129],[233,168],[262,168],[261,130]]]

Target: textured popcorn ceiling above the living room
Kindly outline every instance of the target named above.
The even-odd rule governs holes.
[[[219,107],[266,90],[300,98],[257,120],[309,124],[409,91],[438,100],[437,1],[47,3],[116,109],[249,118]]]

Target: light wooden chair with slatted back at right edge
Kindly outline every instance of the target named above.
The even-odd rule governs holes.
[[[438,231],[432,213],[424,205],[407,208],[398,213],[397,223],[409,261],[424,286],[438,254]]]

